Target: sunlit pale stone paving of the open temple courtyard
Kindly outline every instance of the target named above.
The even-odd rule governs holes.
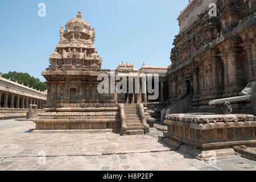
[[[232,156],[216,165],[172,151],[162,132],[121,137],[115,133],[32,133],[32,121],[0,121],[0,170],[256,170]],[[40,164],[42,151],[46,164]]]

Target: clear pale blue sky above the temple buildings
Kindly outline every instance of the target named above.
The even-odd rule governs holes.
[[[46,4],[46,17],[38,4]],[[123,61],[135,68],[168,66],[177,16],[188,0],[0,0],[0,72],[26,72],[40,78],[49,55],[59,42],[60,26],[81,10],[96,29],[102,69],[115,69]]]

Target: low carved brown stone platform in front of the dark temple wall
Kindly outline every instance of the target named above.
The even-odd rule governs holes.
[[[164,136],[200,150],[256,145],[254,115],[170,114],[164,123],[168,129]]]

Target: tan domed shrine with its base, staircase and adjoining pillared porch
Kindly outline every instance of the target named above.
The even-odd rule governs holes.
[[[165,80],[167,67],[148,67],[144,63],[141,69],[134,69],[133,63],[120,63],[114,71],[101,69],[102,58],[94,46],[95,29],[82,19],[77,18],[60,27],[60,42],[49,57],[49,67],[42,72],[47,82],[46,113],[35,119],[36,130],[86,130],[86,131],[121,131],[121,134],[147,134],[154,126],[155,108],[163,109],[168,88]],[[148,79],[141,75],[158,73],[162,88],[155,100],[149,100],[150,94],[143,92],[142,84]],[[99,93],[100,74],[127,77],[134,75],[133,85],[127,91],[135,89],[138,78],[139,92]],[[153,80],[152,80],[153,79]],[[154,82],[152,78],[151,82]],[[116,86],[117,82],[114,86]],[[108,90],[111,88],[109,87]],[[161,91],[162,90],[162,91]],[[156,106],[157,105],[157,106]],[[154,110],[152,109],[154,108]],[[159,110],[158,109],[158,110]],[[150,115],[151,114],[151,115]]]

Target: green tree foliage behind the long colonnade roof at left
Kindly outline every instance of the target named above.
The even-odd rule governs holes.
[[[1,73],[0,73],[1,74]],[[18,81],[19,84],[24,84],[25,86],[33,87],[34,89],[45,91],[47,89],[46,83],[39,80],[39,78],[34,78],[28,73],[18,73],[18,72],[9,72],[2,74],[3,78],[9,79],[11,81]]]

